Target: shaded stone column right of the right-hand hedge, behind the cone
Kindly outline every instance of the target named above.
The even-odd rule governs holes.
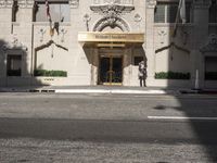
[[[207,40],[208,36],[208,3],[207,1],[199,0],[193,5],[193,34],[192,42],[193,50],[191,51],[191,84],[192,88],[195,87],[196,70],[199,71],[199,87],[204,87],[204,55],[200,52]]]

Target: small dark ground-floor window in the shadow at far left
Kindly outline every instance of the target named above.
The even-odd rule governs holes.
[[[7,58],[7,75],[21,76],[22,55],[8,55]]]

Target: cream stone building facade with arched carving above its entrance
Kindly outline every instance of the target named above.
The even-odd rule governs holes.
[[[216,0],[0,0],[0,86],[217,87]],[[49,12],[49,13],[48,13]],[[48,14],[51,16],[49,22]]]

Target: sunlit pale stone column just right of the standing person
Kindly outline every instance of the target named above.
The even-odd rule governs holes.
[[[146,85],[153,85],[154,83],[154,74],[155,74],[155,51],[154,51],[154,9],[156,5],[156,0],[148,0],[146,1]]]

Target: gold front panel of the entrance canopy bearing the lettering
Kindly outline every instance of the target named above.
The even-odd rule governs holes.
[[[78,33],[79,42],[144,42],[142,33]]]

